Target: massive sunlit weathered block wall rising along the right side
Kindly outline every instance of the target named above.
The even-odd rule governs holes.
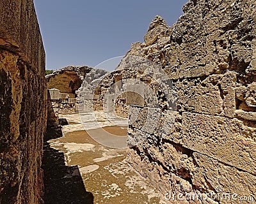
[[[138,118],[129,136],[145,140],[129,149],[127,160],[163,194],[176,194],[176,200],[179,193],[211,192],[256,198],[255,5],[191,0],[173,27],[156,17],[145,42],[134,43],[128,53],[163,68],[177,106],[157,110],[161,117],[153,133],[141,130],[152,110],[131,107]],[[215,196],[205,202],[252,203],[236,198]]]

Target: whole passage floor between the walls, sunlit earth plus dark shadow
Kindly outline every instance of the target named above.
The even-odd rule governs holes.
[[[47,135],[54,139],[44,143],[45,204],[166,203],[164,195],[125,161],[126,149],[95,142],[78,113],[59,118],[66,119],[68,125],[49,130]],[[86,127],[93,129],[90,120],[88,124]],[[109,133],[126,135],[125,127],[111,124],[103,115],[100,126]]]

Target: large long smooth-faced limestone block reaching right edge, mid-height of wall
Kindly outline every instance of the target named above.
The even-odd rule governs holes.
[[[256,129],[237,119],[184,112],[182,145],[250,173],[255,172]]]

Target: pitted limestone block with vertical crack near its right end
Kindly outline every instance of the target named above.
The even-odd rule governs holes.
[[[205,79],[173,82],[177,91],[177,106],[180,111],[234,117],[235,81],[236,74],[228,71],[224,75],[211,75]]]

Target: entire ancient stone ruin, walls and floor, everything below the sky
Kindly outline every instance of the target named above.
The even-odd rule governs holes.
[[[109,202],[128,194],[131,202],[255,203],[255,0],[190,0],[172,27],[156,16],[115,71],[68,66],[46,77],[33,1],[11,5],[0,1],[0,203],[93,203],[92,186]],[[92,140],[93,131],[106,134],[99,127],[118,129],[111,140],[127,152]]]

